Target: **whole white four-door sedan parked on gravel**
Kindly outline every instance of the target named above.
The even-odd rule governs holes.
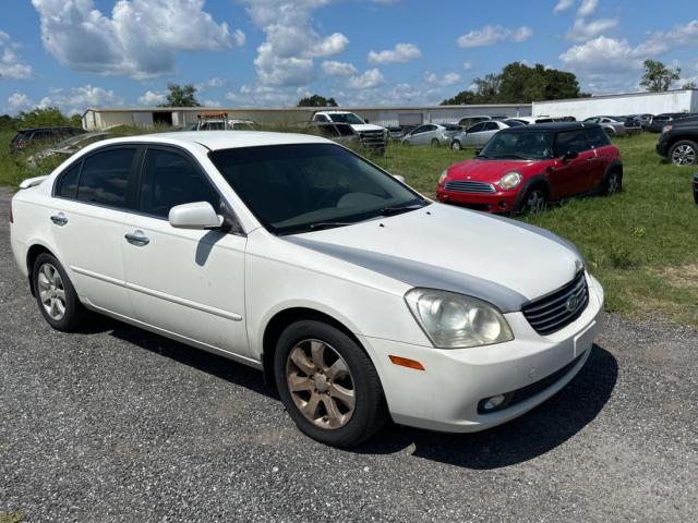
[[[432,203],[327,139],[172,133],[86,147],[12,199],[51,327],[85,309],[264,370],[306,435],[445,431],[563,388],[603,291],[550,232]]]

